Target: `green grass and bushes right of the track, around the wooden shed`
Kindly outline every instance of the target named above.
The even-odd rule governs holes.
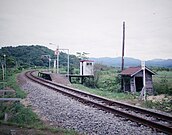
[[[154,89],[156,90],[156,94],[166,94],[171,95],[172,91],[172,71],[158,71],[158,75],[153,76],[153,83],[154,83]],[[117,76],[117,72],[114,72],[114,70],[109,71],[101,71],[100,78],[98,80],[98,86],[97,88],[88,88],[86,86],[80,85],[80,84],[73,84],[73,86],[77,89],[96,94],[99,96],[103,96],[109,99],[115,99],[115,100],[121,100],[121,101],[127,101],[132,104],[137,104],[139,102],[138,96],[140,93],[136,94],[130,94],[130,93],[123,93],[115,91],[114,85],[117,85],[115,83],[108,83],[108,80],[111,82],[115,82],[117,80],[113,80]],[[164,79],[164,77],[166,77]],[[165,81],[165,82],[164,82]],[[113,90],[113,91],[112,91]],[[161,102],[153,102],[153,101],[143,101],[139,102],[142,107],[146,108],[154,108],[157,110],[165,111],[168,113],[172,113],[172,97],[168,96],[168,100],[163,100]]]

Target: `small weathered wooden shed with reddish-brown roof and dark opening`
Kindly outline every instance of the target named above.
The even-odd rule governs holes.
[[[130,67],[123,70],[120,73],[123,81],[123,91],[128,92],[140,92],[143,88],[143,69],[139,67]],[[146,82],[146,92],[153,94],[153,82],[152,75],[155,75],[153,71],[145,67],[145,82]]]

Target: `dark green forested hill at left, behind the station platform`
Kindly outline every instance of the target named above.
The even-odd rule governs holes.
[[[54,51],[44,46],[17,46],[17,47],[2,47],[0,49],[0,60],[6,55],[7,67],[33,67],[33,66],[48,66],[48,57],[50,55],[51,66],[53,59],[56,58]],[[59,56],[60,65],[67,65],[67,54],[61,52]],[[75,55],[70,55],[70,67],[79,67],[79,59]]]

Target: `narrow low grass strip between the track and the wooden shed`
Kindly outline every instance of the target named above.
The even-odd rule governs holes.
[[[115,99],[115,100],[121,100],[121,101],[127,101],[131,104],[137,104],[139,103],[142,107],[145,108],[151,108],[151,109],[157,109],[161,110],[167,113],[172,113],[172,100],[171,98],[163,101],[143,101],[140,102],[138,100],[139,94],[130,94],[130,93],[117,93],[117,92],[109,92],[109,91],[102,91],[100,89],[92,89],[85,87],[81,84],[73,84],[73,86],[77,89],[96,94],[102,97],[106,97],[109,99]]]

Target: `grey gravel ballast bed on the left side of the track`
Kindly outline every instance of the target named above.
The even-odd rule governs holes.
[[[36,84],[24,74],[18,76],[26,100],[38,116],[58,127],[88,135],[160,135],[149,127],[84,105],[70,97]]]

